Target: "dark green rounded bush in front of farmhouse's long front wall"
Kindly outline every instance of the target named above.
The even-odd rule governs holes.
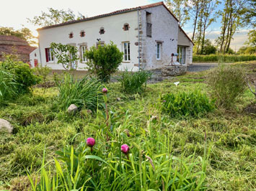
[[[108,45],[91,47],[85,53],[89,73],[97,75],[103,82],[108,82],[112,73],[118,70],[123,60],[123,53],[113,42]]]

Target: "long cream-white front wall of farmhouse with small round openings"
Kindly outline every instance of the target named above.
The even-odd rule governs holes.
[[[129,24],[129,30],[123,30],[123,24]],[[100,27],[104,27],[105,34],[100,34]],[[41,62],[43,65],[48,65],[53,70],[63,70],[61,64],[56,64],[56,58],[54,62],[46,62],[45,58],[45,48],[50,47],[51,42],[66,44],[76,44],[76,47],[79,47],[79,44],[86,43],[87,47],[92,47],[96,45],[97,39],[104,41],[105,43],[114,42],[118,46],[118,49],[123,51],[122,42],[130,42],[130,51],[131,51],[131,61],[123,62],[119,67],[120,70],[125,69],[136,71],[138,67],[138,46],[135,45],[135,42],[138,41],[136,37],[138,35],[138,17],[137,11],[131,11],[123,14],[116,14],[110,17],[102,17],[99,19],[92,19],[86,22],[79,22],[75,24],[64,25],[61,27],[53,27],[49,29],[39,30],[39,43],[40,43],[40,53],[41,53]],[[84,30],[85,37],[80,37],[80,32]],[[69,38],[69,33],[73,32],[74,37]],[[40,59],[39,59],[40,62]],[[84,70],[86,67],[85,63],[78,63],[77,70]]]

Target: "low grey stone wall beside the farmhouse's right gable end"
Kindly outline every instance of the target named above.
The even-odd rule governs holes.
[[[166,65],[153,70],[151,80],[162,81],[172,76],[183,75],[187,72],[187,65]]]

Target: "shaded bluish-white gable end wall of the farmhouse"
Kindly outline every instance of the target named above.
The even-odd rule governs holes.
[[[151,37],[146,37],[146,11],[151,13]],[[145,69],[153,69],[169,65],[172,53],[177,53],[179,27],[177,20],[164,6],[155,6],[141,10],[141,24],[143,33],[141,34],[142,66]],[[162,42],[161,60],[156,60],[156,41]],[[176,61],[176,58],[174,61]]]

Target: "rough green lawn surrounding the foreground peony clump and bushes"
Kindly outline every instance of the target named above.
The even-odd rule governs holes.
[[[256,75],[255,62],[243,63],[243,66],[248,75]],[[249,90],[234,108],[218,108],[200,118],[170,118],[159,112],[159,96],[165,93],[200,89],[208,94],[206,76],[207,72],[187,73],[149,84],[141,95],[120,92],[118,83],[107,84],[108,106],[113,115],[119,117],[114,131],[128,129],[131,136],[124,136],[123,142],[129,144],[131,150],[135,148],[133,143],[140,145],[150,156],[167,153],[187,160],[194,154],[198,163],[193,172],[201,169],[206,133],[207,190],[256,190],[256,115],[243,111],[254,101]],[[180,81],[177,87],[173,84],[176,81]],[[35,88],[31,95],[0,108],[0,118],[14,125],[13,135],[0,135],[0,190],[25,190],[29,185],[26,170],[36,174],[44,150],[45,161],[53,167],[55,152],[63,146],[77,146],[89,136],[100,137],[92,124],[100,126],[105,121],[86,110],[75,116],[55,111],[52,106],[57,94],[56,87],[48,88],[45,94],[43,88]],[[112,141],[115,144],[115,140]],[[157,157],[153,161],[156,162]]]

